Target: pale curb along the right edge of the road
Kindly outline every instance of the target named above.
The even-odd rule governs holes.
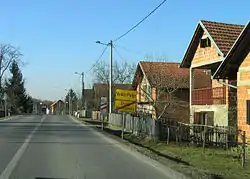
[[[88,125],[87,122],[85,122],[84,120],[78,120],[78,118],[75,118],[73,116],[70,116],[70,118],[81,124],[82,126],[86,126]],[[123,143],[122,141],[125,141],[117,136],[114,136],[112,134],[109,134],[105,131],[102,131],[101,129],[96,128],[95,126],[89,126],[88,127],[93,130],[93,132],[95,132],[95,134],[97,134],[98,136],[104,138],[106,141],[111,142],[113,144],[115,144],[117,147],[119,147],[121,150],[133,155],[134,157],[138,158],[140,161],[147,163],[148,165],[152,166],[153,168],[157,169],[158,171],[162,172],[163,174],[166,175],[166,177],[168,178],[176,178],[176,179],[190,179],[190,177],[185,176],[183,173],[180,173],[178,171],[173,170],[172,168],[158,162],[157,160],[154,160],[153,158],[150,158],[147,155],[144,155],[143,153],[139,152],[136,150],[135,147],[133,147],[132,143],[131,145],[127,145],[125,143]],[[118,138],[120,140],[118,140]],[[121,141],[122,140],[122,141]]]

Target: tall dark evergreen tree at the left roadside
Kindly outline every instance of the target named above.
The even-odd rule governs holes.
[[[8,106],[13,113],[31,112],[32,99],[26,94],[22,72],[16,61],[10,65],[11,77],[5,81]]]

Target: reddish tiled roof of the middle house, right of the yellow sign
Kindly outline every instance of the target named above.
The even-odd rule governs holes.
[[[189,69],[179,68],[180,63],[174,62],[140,62],[141,67],[154,87],[176,86],[177,88],[189,88]],[[195,76],[200,80],[195,80],[198,88],[208,87],[210,77],[202,69],[195,69]]]

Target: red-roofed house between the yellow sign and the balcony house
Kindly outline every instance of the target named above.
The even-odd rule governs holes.
[[[137,110],[154,119],[168,118],[189,121],[189,71],[179,68],[180,63],[144,62],[137,65],[132,88],[137,90]],[[196,70],[205,87],[206,76]]]

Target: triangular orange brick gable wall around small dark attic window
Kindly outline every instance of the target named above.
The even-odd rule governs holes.
[[[203,32],[202,36],[199,39],[198,46],[196,48],[193,59],[191,60],[192,67],[204,66],[207,64],[216,63],[222,60],[221,55],[215,44],[212,42],[212,39],[209,38],[211,42],[211,47],[201,47],[201,39],[209,38],[209,35],[206,32]]]

